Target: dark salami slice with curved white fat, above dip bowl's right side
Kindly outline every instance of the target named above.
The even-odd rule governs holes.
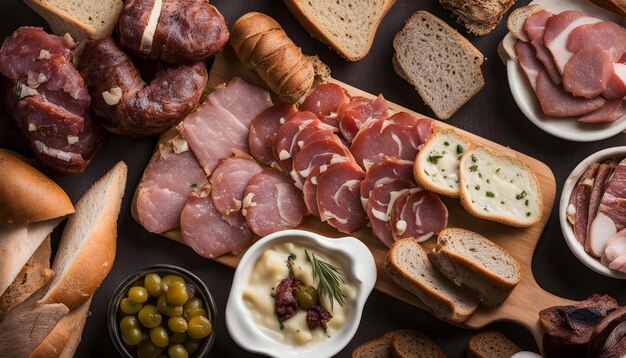
[[[365,226],[367,216],[361,205],[361,180],[365,173],[353,162],[330,165],[317,179],[317,207],[320,219],[344,233]]]

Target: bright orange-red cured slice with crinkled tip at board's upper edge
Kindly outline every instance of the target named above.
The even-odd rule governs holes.
[[[383,95],[369,100],[365,97],[352,97],[339,108],[337,119],[344,139],[351,143],[363,127],[373,120],[387,117],[389,105]]]

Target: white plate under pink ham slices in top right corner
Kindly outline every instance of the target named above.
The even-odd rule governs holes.
[[[599,19],[613,21],[621,25],[626,24],[626,20],[594,5],[589,0],[535,0],[530,4],[541,5],[553,13],[579,10]],[[612,137],[626,130],[626,114],[622,114],[614,122],[605,124],[580,123],[575,118],[546,116],[541,110],[535,91],[530,87],[528,79],[517,61],[509,59],[506,67],[509,87],[517,106],[533,124],[544,132],[575,142],[593,142]],[[622,111],[625,107],[622,105]]]

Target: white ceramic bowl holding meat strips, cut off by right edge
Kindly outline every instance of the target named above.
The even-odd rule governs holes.
[[[585,169],[587,169],[593,163],[598,163],[611,158],[624,157],[626,157],[626,146],[604,149],[587,157],[585,160],[580,162],[580,164],[578,164],[576,168],[574,168],[572,173],[567,177],[567,180],[565,180],[565,184],[563,184],[563,191],[561,192],[561,202],[559,203],[559,220],[561,222],[561,231],[563,231],[563,236],[565,237],[565,242],[567,242],[567,246],[569,246],[574,255],[578,257],[578,259],[583,264],[585,264],[585,266],[589,267],[595,272],[604,276],[620,279],[626,279],[626,273],[611,270],[608,267],[604,266],[599,259],[589,255],[585,251],[585,248],[578,242],[578,240],[576,240],[572,225],[570,225],[570,223],[567,221],[567,206],[569,205],[569,198],[572,195],[574,186],[578,182],[578,179],[583,174]]]

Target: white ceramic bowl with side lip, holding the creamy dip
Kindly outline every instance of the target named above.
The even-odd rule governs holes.
[[[351,309],[344,327],[333,334],[327,341],[295,347],[280,343],[264,333],[264,329],[254,322],[250,311],[245,306],[242,291],[260,255],[270,247],[285,243],[301,243],[319,249],[326,254],[339,255],[345,272],[346,281],[356,288],[356,295],[351,301]],[[331,357],[343,349],[352,339],[361,321],[365,301],[376,283],[376,263],[370,250],[360,240],[353,237],[331,239],[302,230],[285,230],[268,235],[252,245],[243,255],[233,279],[228,303],[226,305],[226,327],[233,340],[243,349],[272,357]]]

